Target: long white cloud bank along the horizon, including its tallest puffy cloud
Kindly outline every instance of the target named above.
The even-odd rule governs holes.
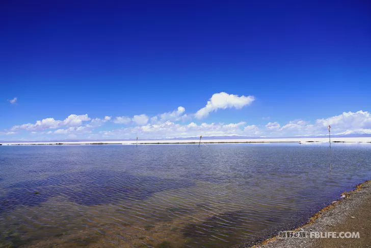
[[[16,99],[16,98],[15,98]],[[21,139],[130,139],[136,136],[145,138],[176,138],[194,136],[316,136],[327,134],[328,125],[332,126],[333,134],[338,135],[371,135],[371,114],[368,111],[343,112],[328,118],[315,121],[302,119],[287,123],[270,121],[266,125],[254,125],[245,120],[237,123],[201,122],[197,120],[207,117],[220,109],[241,109],[251,105],[255,100],[252,95],[239,96],[226,92],[215,93],[207,101],[205,107],[196,113],[186,113],[186,108],[177,109],[154,116],[138,114],[134,116],[104,116],[91,118],[88,114],[71,114],[64,120],[47,117],[35,123],[15,125],[0,131],[4,140]],[[16,100],[15,100],[16,101]],[[108,123],[113,128],[104,128]],[[116,127],[117,126],[117,127]],[[30,136],[31,135],[31,136]]]

